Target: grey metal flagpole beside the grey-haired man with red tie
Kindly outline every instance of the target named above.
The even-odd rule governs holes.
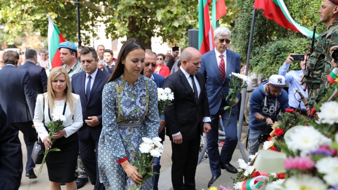
[[[247,54],[247,57],[246,57],[246,69],[245,69],[245,75],[246,76],[248,75],[248,71],[249,71],[249,60],[250,60],[250,54],[251,54],[252,38],[254,36],[255,19],[256,19],[256,9],[254,9],[254,15],[252,16],[248,54]],[[240,112],[239,112],[238,130],[237,130],[237,138],[238,138],[237,144],[238,144],[239,150],[241,151],[241,154],[243,156],[244,161],[247,163],[248,157],[246,156],[244,148],[243,148],[242,143],[241,143],[245,98],[246,98],[246,88],[244,88],[243,91],[242,91],[242,102],[241,102],[241,109],[240,109]]]

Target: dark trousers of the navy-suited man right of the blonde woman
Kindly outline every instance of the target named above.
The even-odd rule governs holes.
[[[84,168],[87,171],[88,177],[94,190],[104,190],[103,183],[100,183],[99,167],[97,164],[97,146],[99,142],[95,141],[91,134],[87,140],[79,139],[80,157]]]

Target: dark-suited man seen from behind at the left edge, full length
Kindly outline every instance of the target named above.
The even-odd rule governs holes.
[[[7,114],[12,127],[20,130],[24,135],[27,147],[26,177],[35,179],[34,161],[31,157],[36,131],[33,128],[35,96],[33,95],[30,77],[27,71],[16,69],[19,54],[7,51],[3,55],[5,66],[0,70],[0,104]]]

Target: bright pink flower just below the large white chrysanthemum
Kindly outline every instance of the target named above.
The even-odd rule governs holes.
[[[300,170],[312,170],[315,162],[310,157],[289,157],[285,159],[284,166],[286,170],[300,169]]]

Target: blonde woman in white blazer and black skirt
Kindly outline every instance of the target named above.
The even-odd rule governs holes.
[[[54,133],[56,139],[54,143],[49,139],[48,130],[43,123],[51,120],[52,113],[66,116],[65,128]],[[66,183],[67,190],[76,190],[74,171],[79,152],[76,131],[83,124],[82,109],[80,96],[71,93],[70,79],[63,67],[55,67],[51,70],[47,92],[37,97],[33,123],[46,149],[61,150],[49,152],[46,157],[51,189],[60,189],[60,183]]]

